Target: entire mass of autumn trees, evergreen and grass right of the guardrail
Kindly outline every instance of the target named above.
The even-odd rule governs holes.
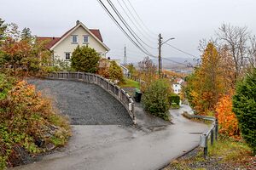
[[[182,166],[177,169],[255,165],[255,44],[247,27],[226,24],[219,27],[215,41],[201,42],[201,59],[186,77],[185,97],[196,114],[218,119],[222,138],[210,147],[206,160],[199,151],[195,157],[172,162],[174,167]],[[194,161],[201,166],[194,166]]]

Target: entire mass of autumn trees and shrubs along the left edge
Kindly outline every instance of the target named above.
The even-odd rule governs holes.
[[[29,28],[0,19],[0,169],[28,163],[71,135],[68,118],[23,80],[55,71],[44,45]]]

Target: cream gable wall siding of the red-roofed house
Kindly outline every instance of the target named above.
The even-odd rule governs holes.
[[[78,36],[78,43],[72,43],[71,37],[72,35]],[[62,40],[54,50],[54,57],[55,59],[64,59],[66,60],[65,53],[73,53],[73,50],[79,46],[88,45],[90,48],[94,48],[97,53],[102,54],[102,57],[105,56],[106,52],[108,50],[102,46],[101,43],[97,42],[95,37],[89,36],[89,43],[84,44],[83,43],[83,36],[84,35],[90,35],[88,31],[85,31],[82,26],[79,26],[76,30],[71,32],[71,34],[66,37],[64,40]]]

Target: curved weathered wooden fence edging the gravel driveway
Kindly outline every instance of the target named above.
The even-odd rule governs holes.
[[[109,94],[113,95],[119,102],[125,106],[125,109],[128,111],[129,116],[134,124],[136,124],[136,116],[134,111],[134,102],[131,99],[131,96],[125,92],[119,86],[113,84],[108,79],[92,74],[92,73],[85,73],[85,72],[67,72],[67,71],[59,71],[59,72],[50,72],[46,78],[49,79],[62,79],[62,80],[75,80],[79,82],[88,82],[98,85],[99,87],[103,88]]]

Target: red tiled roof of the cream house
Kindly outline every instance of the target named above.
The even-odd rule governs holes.
[[[80,23],[82,24],[82,23]],[[79,24],[79,25],[80,25]],[[57,42],[60,42],[62,38],[66,37],[67,34],[69,34],[71,31],[74,30],[74,28],[78,27],[77,26],[73,26],[70,30],[68,30],[67,32],[65,32],[61,37],[37,37],[38,41],[45,41],[45,48],[52,48]],[[102,34],[101,31],[98,29],[88,29],[90,31],[90,33],[92,33],[98,41],[103,43],[103,39],[102,39]]]

